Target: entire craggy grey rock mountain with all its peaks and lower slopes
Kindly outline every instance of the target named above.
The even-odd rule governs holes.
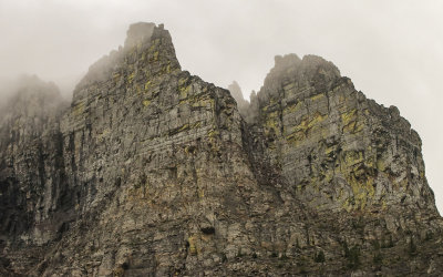
[[[127,34],[70,106],[34,80],[1,111],[1,275],[443,271],[421,141],[396,107],[293,54],[243,103],[182,71],[163,25]]]

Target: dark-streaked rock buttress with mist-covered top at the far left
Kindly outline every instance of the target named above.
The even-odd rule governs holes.
[[[1,233],[20,234],[25,243],[32,236],[40,245],[50,239],[41,233],[55,219],[49,214],[60,214],[65,203],[59,124],[65,104],[54,84],[35,76],[21,83],[1,111]]]

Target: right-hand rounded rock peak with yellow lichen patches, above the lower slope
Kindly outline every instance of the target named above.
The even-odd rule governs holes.
[[[437,214],[421,140],[396,107],[356,91],[321,58],[277,57],[251,111],[266,156],[317,211]]]

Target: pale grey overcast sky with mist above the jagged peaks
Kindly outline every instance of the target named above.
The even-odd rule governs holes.
[[[183,69],[245,98],[276,54],[318,54],[411,122],[443,211],[442,14],[437,0],[0,0],[0,80],[38,74],[68,93],[137,21],[165,23]]]

